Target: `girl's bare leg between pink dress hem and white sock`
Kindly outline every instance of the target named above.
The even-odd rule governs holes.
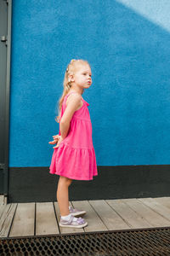
[[[57,188],[57,201],[61,216],[69,215],[69,186],[72,180],[68,177],[59,176]]]

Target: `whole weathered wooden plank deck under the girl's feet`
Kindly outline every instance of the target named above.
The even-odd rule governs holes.
[[[70,201],[85,210],[83,229],[59,227],[59,206],[54,202],[0,201],[0,237],[74,234],[105,230],[131,230],[170,226],[170,197],[99,201]]]

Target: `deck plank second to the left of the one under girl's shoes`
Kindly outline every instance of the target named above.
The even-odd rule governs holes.
[[[34,236],[35,203],[19,203],[9,236]]]

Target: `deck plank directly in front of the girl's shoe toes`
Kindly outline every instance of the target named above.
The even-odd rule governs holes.
[[[71,203],[73,207],[86,211],[86,214],[82,216],[88,222],[88,226],[84,228],[85,232],[108,230],[88,201],[71,201]]]

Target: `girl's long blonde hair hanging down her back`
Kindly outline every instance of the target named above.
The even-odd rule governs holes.
[[[70,74],[74,74],[76,69],[77,69],[77,66],[81,64],[81,65],[87,65],[90,67],[88,61],[84,61],[84,60],[71,60],[71,62],[69,63],[69,65],[67,66],[66,68],[66,71],[65,71],[65,79],[64,79],[64,82],[63,82],[63,87],[64,87],[64,90],[63,90],[63,94],[62,96],[59,98],[59,101],[58,101],[58,116],[56,116],[55,118],[55,121],[57,123],[59,123],[59,120],[60,120],[60,114],[61,114],[61,107],[62,107],[62,103],[64,101],[64,97],[66,94],[68,94],[68,92],[71,90],[71,81],[69,81],[69,75]]]

